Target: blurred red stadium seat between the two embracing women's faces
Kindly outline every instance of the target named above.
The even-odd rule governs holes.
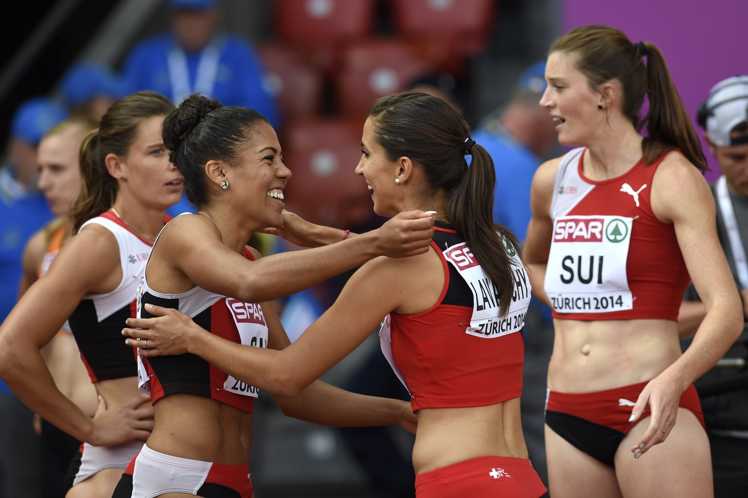
[[[349,228],[373,216],[371,194],[355,174],[361,160],[364,119],[307,118],[290,121],[283,160],[292,173],[286,209],[310,222]]]

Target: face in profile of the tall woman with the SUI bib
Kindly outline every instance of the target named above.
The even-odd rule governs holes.
[[[605,123],[605,112],[598,109],[601,94],[590,87],[575,60],[575,55],[553,52],[545,66],[548,88],[540,105],[551,113],[561,145],[587,145]]]

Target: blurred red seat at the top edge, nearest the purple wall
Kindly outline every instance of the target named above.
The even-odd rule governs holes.
[[[449,49],[442,67],[455,70],[455,59],[475,55],[488,45],[497,0],[390,0],[399,34],[426,37]],[[444,67],[444,66],[447,67]]]

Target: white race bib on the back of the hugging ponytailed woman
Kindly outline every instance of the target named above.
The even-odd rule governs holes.
[[[524,317],[527,315],[527,307],[530,306],[530,277],[527,276],[527,271],[524,270],[512,243],[504,237],[502,240],[504,250],[512,260],[515,281],[512,303],[509,304],[506,315],[499,313],[498,288],[485,274],[468,244],[462,242],[444,251],[444,258],[457,269],[473,291],[473,315],[470,318],[470,326],[465,326],[465,333],[476,337],[496,338],[518,332],[524,326]]]

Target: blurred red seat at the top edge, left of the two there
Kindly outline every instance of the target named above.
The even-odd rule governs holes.
[[[304,50],[322,70],[336,63],[337,50],[373,32],[375,0],[276,0],[275,32]]]

